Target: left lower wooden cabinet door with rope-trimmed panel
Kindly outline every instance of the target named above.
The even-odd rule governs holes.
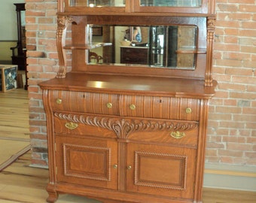
[[[57,182],[117,189],[117,142],[56,135]]]

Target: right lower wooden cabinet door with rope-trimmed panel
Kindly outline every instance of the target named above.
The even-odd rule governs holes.
[[[172,198],[194,197],[197,150],[128,144],[126,189]]]

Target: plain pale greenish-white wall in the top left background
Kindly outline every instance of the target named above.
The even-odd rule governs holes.
[[[1,0],[0,41],[17,40],[17,14],[14,3],[25,3],[25,0]]]

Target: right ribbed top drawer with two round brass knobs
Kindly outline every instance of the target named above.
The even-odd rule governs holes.
[[[199,120],[200,99],[121,95],[120,115],[172,120]]]

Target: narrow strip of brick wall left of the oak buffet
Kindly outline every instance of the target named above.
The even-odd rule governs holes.
[[[47,165],[47,135],[42,80],[55,77],[57,0],[26,0],[26,43],[29,77],[29,124],[32,144],[32,165]]]

